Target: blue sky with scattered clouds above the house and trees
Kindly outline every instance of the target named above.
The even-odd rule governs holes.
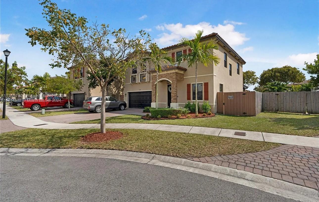
[[[247,62],[243,70],[254,70],[257,76],[277,66],[302,69],[304,61],[313,62],[319,52],[318,0],[53,1],[78,16],[131,34],[145,29],[160,47],[191,38],[198,29],[204,29],[204,34],[217,32]],[[29,78],[66,71],[51,69],[51,56],[28,44],[25,28],[47,28],[37,0],[1,0],[0,9],[0,46],[1,51],[11,51],[10,63],[26,66]]]

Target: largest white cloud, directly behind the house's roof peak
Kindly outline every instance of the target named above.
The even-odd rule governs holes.
[[[164,24],[156,26],[156,29],[165,31],[159,34],[156,42],[160,46],[169,46],[176,44],[182,37],[192,38],[197,30],[204,30],[203,35],[217,32],[230,46],[242,45],[245,41],[249,40],[245,33],[235,31],[235,26],[227,25],[211,25],[208,22],[200,22],[197,25],[182,25],[177,24]]]

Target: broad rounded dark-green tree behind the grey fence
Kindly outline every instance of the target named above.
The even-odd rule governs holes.
[[[306,79],[305,74],[291,66],[264,70],[259,77],[259,85],[264,86],[269,82],[299,83]]]

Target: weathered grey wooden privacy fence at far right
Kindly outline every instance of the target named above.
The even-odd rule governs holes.
[[[262,110],[319,114],[319,91],[265,92],[262,96]]]

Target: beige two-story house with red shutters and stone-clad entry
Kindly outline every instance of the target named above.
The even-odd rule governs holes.
[[[220,63],[205,67],[198,64],[197,99],[200,105],[208,102],[211,111],[217,111],[217,92],[238,92],[243,90],[242,65],[246,62],[217,33],[203,36],[205,41],[215,41],[219,50],[214,50]],[[173,60],[192,50],[184,45],[172,45],[163,48]],[[124,83],[124,101],[129,108],[155,107],[156,71],[140,72],[139,69],[128,69]],[[195,101],[195,67],[188,68],[183,61],[179,66],[164,66],[159,73],[159,107],[184,106],[186,102]]]

